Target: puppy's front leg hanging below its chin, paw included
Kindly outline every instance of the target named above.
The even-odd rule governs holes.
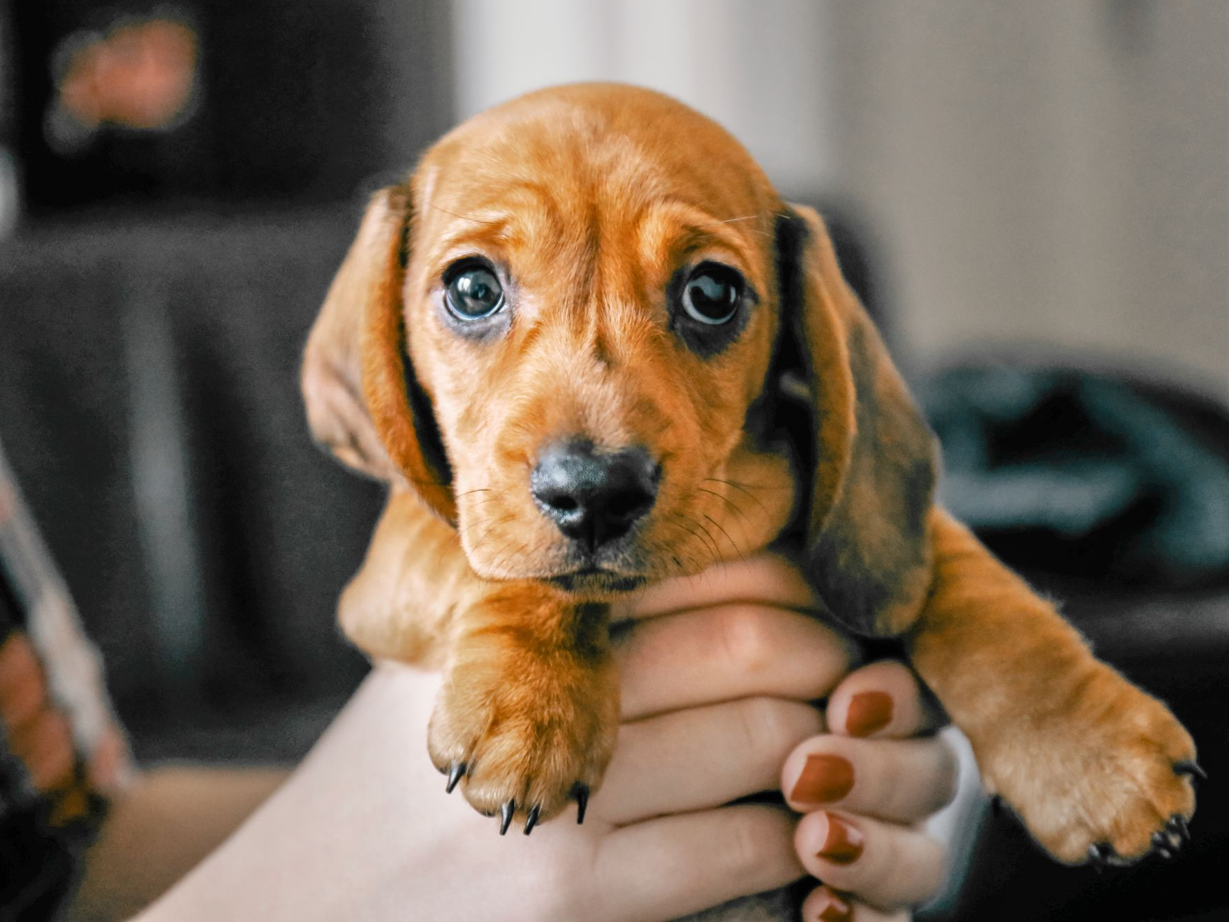
[[[458,612],[428,745],[481,813],[528,832],[601,781],[618,731],[607,609],[535,583],[488,584]]]

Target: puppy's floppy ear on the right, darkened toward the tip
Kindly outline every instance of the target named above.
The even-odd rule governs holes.
[[[777,246],[782,332],[812,407],[807,577],[850,629],[897,634],[930,585],[934,436],[841,274],[820,216],[788,209]]]

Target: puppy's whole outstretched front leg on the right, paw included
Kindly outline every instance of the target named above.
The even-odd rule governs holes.
[[[912,658],[986,787],[1064,862],[1176,849],[1195,810],[1190,734],[962,525],[936,510],[932,530],[935,583]]]

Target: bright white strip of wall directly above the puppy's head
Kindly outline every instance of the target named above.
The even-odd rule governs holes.
[[[812,0],[454,0],[458,114],[552,84],[640,84],[814,187],[833,167],[827,18]]]

